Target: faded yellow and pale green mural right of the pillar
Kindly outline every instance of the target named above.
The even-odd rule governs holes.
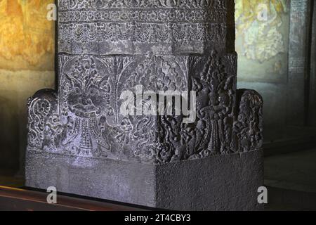
[[[242,54],[263,62],[284,53],[282,13],[287,13],[286,0],[239,0],[236,4],[237,35],[242,36]]]

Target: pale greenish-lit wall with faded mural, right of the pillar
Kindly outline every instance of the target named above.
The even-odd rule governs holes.
[[[307,113],[315,117],[306,108],[310,2],[237,0],[235,7],[237,86],[263,96],[265,142],[288,139],[289,126],[306,126]]]

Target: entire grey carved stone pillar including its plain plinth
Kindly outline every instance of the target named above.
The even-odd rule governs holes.
[[[260,209],[263,101],[236,90],[234,1],[58,8],[58,91],[29,99],[27,186],[174,210]],[[136,115],[121,112],[124,91]],[[191,113],[156,109],[145,91],[190,98]]]

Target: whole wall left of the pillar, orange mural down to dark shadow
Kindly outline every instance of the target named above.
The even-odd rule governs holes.
[[[27,98],[55,86],[52,0],[0,1],[0,168],[17,171],[26,146]]]

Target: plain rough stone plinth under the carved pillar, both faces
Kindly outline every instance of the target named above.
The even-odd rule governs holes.
[[[172,210],[262,210],[262,151],[164,165],[27,153],[27,186]]]

